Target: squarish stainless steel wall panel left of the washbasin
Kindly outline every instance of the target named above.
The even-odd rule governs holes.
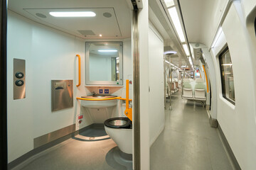
[[[52,80],[52,111],[73,107],[73,80]]]

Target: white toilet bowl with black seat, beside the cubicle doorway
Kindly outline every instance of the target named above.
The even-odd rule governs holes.
[[[110,118],[105,120],[105,131],[119,149],[132,154],[132,122],[129,118]]]

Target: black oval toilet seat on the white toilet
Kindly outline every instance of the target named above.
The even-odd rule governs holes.
[[[132,128],[132,121],[129,118],[110,118],[105,120],[104,125],[109,128]]]

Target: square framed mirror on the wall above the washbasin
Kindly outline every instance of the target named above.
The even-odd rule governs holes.
[[[122,42],[85,42],[87,85],[122,85],[122,47]]]

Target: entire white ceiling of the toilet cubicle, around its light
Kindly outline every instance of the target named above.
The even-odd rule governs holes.
[[[8,8],[37,23],[80,38],[99,38],[100,34],[102,38],[131,37],[132,13],[127,0],[9,0]],[[93,11],[96,16],[55,18],[49,15],[50,11]]]

